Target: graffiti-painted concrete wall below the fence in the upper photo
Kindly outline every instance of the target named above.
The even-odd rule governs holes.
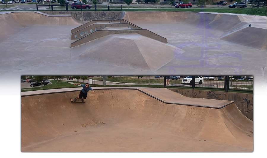
[[[43,11],[42,13],[50,14],[50,15],[66,15],[70,14],[74,19],[78,21],[91,21],[91,20],[114,20],[119,15],[120,12],[81,12],[81,11],[62,11],[62,12],[52,12],[52,11]]]

